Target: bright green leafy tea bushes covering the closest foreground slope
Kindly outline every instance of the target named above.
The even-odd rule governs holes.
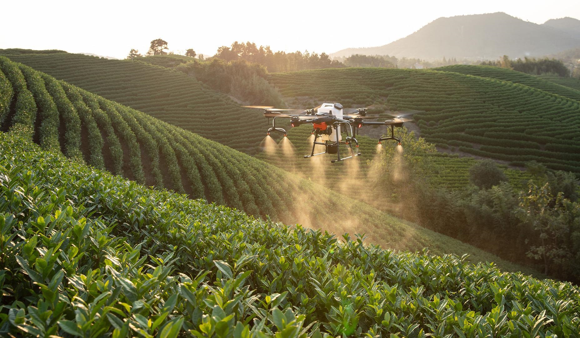
[[[2,336],[578,336],[570,283],[258,221],[17,131],[0,133]]]

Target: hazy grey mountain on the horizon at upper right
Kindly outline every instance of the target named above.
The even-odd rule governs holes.
[[[580,36],[569,32],[576,25],[564,19],[550,20],[554,22],[539,25],[501,12],[440,17],[388,45],[343,49],[331,56],[358,53],[424,60],[440,60],[443,57],[496,59],[502,55],[512,58],[544,56],[580,47]],[[565,30],[552,25],[565,27]]]

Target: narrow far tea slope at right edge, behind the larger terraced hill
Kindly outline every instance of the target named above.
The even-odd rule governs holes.
[[[571,89],[571,87],[550,82],[543,77],[525,74],[523,72],[514,71],[512,69],[479,65],[451,65],[432,68],[432,70],[456,72],[466,75],[481,76],[483,78],[492,78],[513,83],[525,84],[525,86],[547,91],[548,93],[552,94],[558,94],[563,97],[571,98],[572,100],[580,101],[580,90]]]

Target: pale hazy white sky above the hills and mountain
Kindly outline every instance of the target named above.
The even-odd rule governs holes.
[[[27,1],[0,5],[0,49],[61,49],[124,58],[162,38],[176,52],[215,54],[253,41],[273,50],[333,53],[403,38],[442,16],[505,12],[533,23],[570,16],[580,1]]]

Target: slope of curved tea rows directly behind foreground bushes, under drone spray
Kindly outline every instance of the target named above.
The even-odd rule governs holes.
[[[525,270],[338,193],[321,196],[326,189],[313,182],[5,57],[0,57],[0,88],[9,94],[0,96],[3,131],[24,130],[42,148],[60,149],[96,168],[263,218],[365,233],[385,248],[469,252],[476,261]]]

